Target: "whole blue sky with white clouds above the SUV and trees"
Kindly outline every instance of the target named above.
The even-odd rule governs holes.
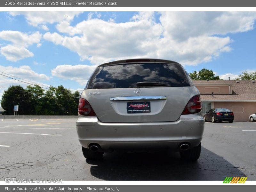
[[[255,19],[256,12],[0,12],[0,73],[74,91],[101,63],[159,58],[233,79],[256,69]],[[13,84],[27,86],[0,76],[0,98]]]

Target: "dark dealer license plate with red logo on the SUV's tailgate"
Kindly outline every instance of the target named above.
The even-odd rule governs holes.
[[[150,113],[150,102],[127,102],[127,113]]]

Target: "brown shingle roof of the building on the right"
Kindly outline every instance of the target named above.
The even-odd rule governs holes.
[[[236,80],[193,80],[193,83],[196,85],[199,84],[231,84],[232,85],[232,94],[214,94],[205,95],[201,94],[201,100],[255,100],[256,101],[256,81],[252,83],[251,80],[239,80],[239,83],[236,83]]]

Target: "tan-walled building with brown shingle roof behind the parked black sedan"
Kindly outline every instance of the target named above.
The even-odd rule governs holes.
[[[249,121],[256,112],[256,82],[252,80],[194,80],[201,94],[203,114],[211,108],[227,108],[235,121]],[[212,94],[213,92],[213,94]]]

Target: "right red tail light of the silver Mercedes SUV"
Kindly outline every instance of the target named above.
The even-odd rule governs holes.
[[[200,95],[196,95],[188,101],[188,104],[184,108],[181,115],[199,113],[201,110],[202,110],[202,105],[201,105]]]

